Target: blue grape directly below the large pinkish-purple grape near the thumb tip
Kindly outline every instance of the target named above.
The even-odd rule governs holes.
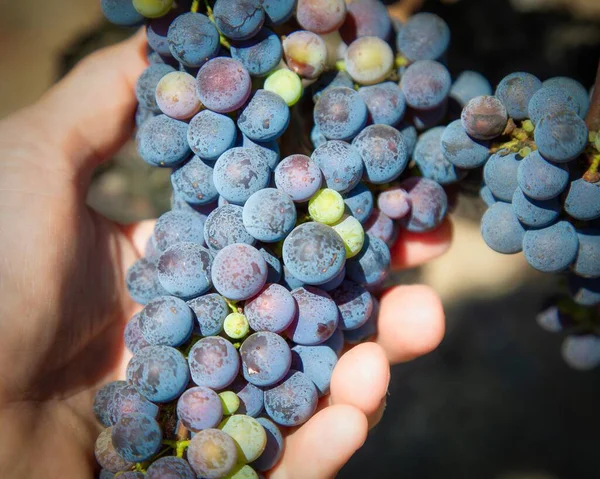
[[[216,161],[235,144],[237,130],[228,116],[203,110],[190,121],[187,137],[196,155],[204,160]]]

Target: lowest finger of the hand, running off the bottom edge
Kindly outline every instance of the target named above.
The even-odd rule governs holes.
[[[315,414],[288,436],[283,457],[270,479],[333,478],[367,438],[365,415],[350,405]]]

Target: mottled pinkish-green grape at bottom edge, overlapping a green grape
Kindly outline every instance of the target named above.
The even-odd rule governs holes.
[[[190,441],[187,459],[199,477],[220,479],[234,469],[238,452],[229,434],[219,429],[204,429]]]

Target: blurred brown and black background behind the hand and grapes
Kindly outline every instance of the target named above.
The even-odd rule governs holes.
[[[523,70],[593,83],[600,0],[399,3],[401,14],[422,8],[448,22],[453,76],[473,69],[495,85]],[[130,33],[104,22],[98,0],[0,0],[0,118]],[[147,167],[130,143],[98,170],[89,202],[123,222],[155,217],[168,208],[168,172]],[[600,478],[600,370],[568,368],[562,335],[534,319],[560,278],[489,250],[483,211],[461,195],[449,253],[394,276],[438,291],[447,335],[434,353],[393,369],[386,416],[339,477]]]

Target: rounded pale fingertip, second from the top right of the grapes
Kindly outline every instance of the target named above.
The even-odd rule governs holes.
[[[442,303],[428,286],[397,286],[381,298],[376,343],[390,363],[429,353],[444,332]]]

